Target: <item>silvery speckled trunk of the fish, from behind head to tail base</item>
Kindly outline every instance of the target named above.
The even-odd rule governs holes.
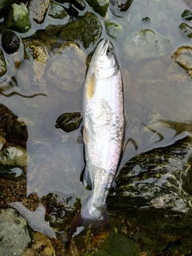
[[[91,98],[85,90],[84,104],[86,168],[93,188],[90,214],[101,218],[122,151],[124,106],[120,71],[108,79],[96,79]]]

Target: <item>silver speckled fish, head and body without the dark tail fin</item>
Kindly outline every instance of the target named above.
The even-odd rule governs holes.
[[[83,113],[83,184],[93,190],[89,213],[99,220],[103,219],[106,197],[121,160],[125,126],[122,74],[109,40],[102,39],[91,58]]]

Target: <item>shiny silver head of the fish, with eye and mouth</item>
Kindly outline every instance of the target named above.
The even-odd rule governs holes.
[[[118,72],[119,68],[114,54],[114,46],[110,40],[102,39],[98,43],[94,51],[93,62],[95,74],[99,78],[110,78]]]

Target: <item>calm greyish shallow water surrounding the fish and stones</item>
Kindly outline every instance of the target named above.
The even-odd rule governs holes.
[[[86,9],[79,14],[83,15],[90,10],[100,19],[103,28],[101,38],[109,38],[114,43],[122,70],[127,125],[126,149],[119,170],[135,154],[154,147],[170,145],[191,132],[191,78],[171,59],[171,54],[178,47],[191,46],[191,38],[187,38],[179,29],[182,22],[190,25],[190,22],[184,21],[181,17],[185,9],[190,7],[181,0],[134,0],[130,9],[125,13],[119,13],[119,16],[115,16],[109,8],[106,18],[101,18],[87,4]],[[142,18],[146,17],[150,18],[150,22],[142,21]],[[120,26],[117,34],[114,32],[115,38],[113,31],[111,36],[107,34],[104,22],[108,20]],[[43,30],[48,24],[48,18],[42,25],[32,23],[34,31]],[[136,63],[126,60],[122,47],[126,37],[138,30],[146,29],[154,30],[169,38],[172,42],[170,48],[166,50],[163,57],[145,59]],[[33,31],[25,36],[30,33],[33,34]],[[22,34],[19,35],[23,37]],[[61,39],[56,38],[56,42],[57,40],[61,42]],[[81,44],[80,47],[86,55],[94,49],[94,47],[84,49]],[[57,43],[50,48],[45,73],[56,50]],[[23,58],[22,52],[21,46],[17,55],[20,60]],[[14,91],[19,91],[19,94],[26,96],[43,94],[33,98],[25,98],[17,94],[6,97],[0,94],[0,102],[3,105],[18,117],[30,120],[29,124],[26,122],[28,131],[26,194],[35,192],[38,198],[42,198],[54,192],[63,198],[70,196],[80,198],[83,205],[90,192],[84,189],[79,180],[84,167],[83,146],[77,142],[78,137],[81,136],[81,127],[71,133],[65,133],[54,127],[59,115],[66,112],[82,112],[83,85],[76,92],[67,92],[46,80],[46,88],[37,89],[31,86],[30,90],[23,89],[25,82],[18,80],[19,83],[17,78],[18,73],[25,72],[23,71],[25,63],[17,68],[13,65],[14,56],[5,54],[5,58],[9,63],[8,74],[13,82],[9,90],[3,91],[4,94]],[[173,63],[174,70],[172,68],[169,70]],[[73,75],[74,71],[71,70],[70,76]],[[46,76],[44,78],[46,79]],[[6,86],[6,81],[2,82],[2,86],[0,84],[1,88]],[[157,126],[152,126],[150,122],[153,120],[153,113],[156,121],[152,124],[158,123]],[[156,117],[157,114],[159,118]],[[160,120],[165,122],[159,122]],[[167,126],[167,122],[173,122],[172,126]],[[182,126],[176,130],[178,122],[181,122]]]

